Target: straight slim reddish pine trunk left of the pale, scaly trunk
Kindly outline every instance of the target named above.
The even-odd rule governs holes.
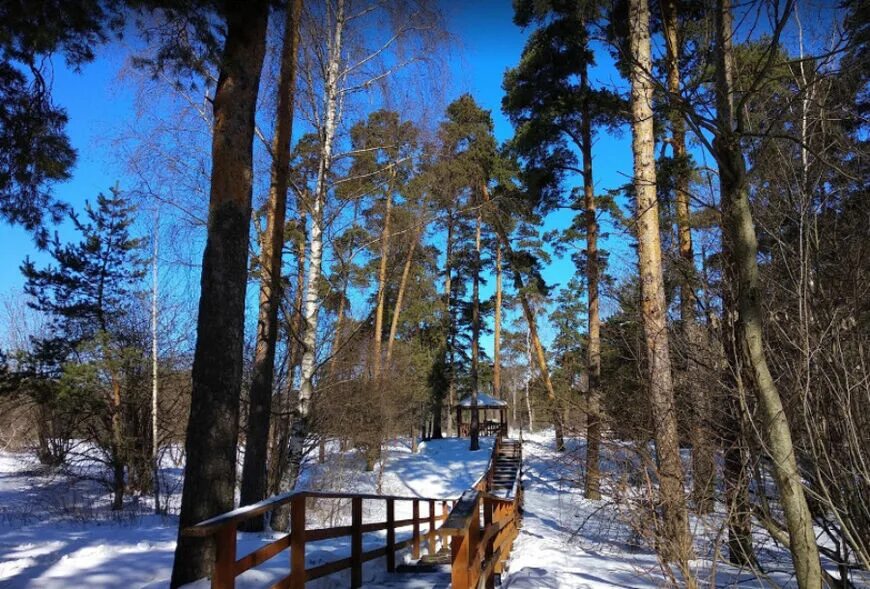
[[[588,94],[589,78],[585,61],[580,72],[580,83]],[[584,100],[580,132],[583,152],[583,206],[586,214],[586,280],[589,299],[585,496],[587,499],[598,500],[601,499],[601,321],[598,301],[598,218],[595,209],[595,183],[592,176],[592,116],[589,101]]]

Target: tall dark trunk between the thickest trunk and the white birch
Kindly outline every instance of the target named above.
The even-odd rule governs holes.
[[[257,344],[251,376],[245,462],[242,468],[240,505],[261,501],[266,495],[266,464],[269,422],[272,414],[272,381],[275,374],[275,342],[278,337],[278,306],[281,302],[281,259],[284,250],[284,220],[287,210],[287,176],[290,172],[290,139],[293,135],[293,102],[296,88],[296,53],[302,0],[287,4],[278,109],[272,143],[272,178],[266,213],[266,235],[260,253],[260,312]],[[263,529],[263,517],[249,519],[243,529]]]

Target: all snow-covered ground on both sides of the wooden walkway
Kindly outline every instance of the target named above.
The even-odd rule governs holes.
[[[380,492],[417,497],[457,497],[483,473],[492,440],[480,451],[468,451],[467,440],[421,444],[412,454],[406,441],[385,451],[383,469],[364,472],[358,453],[331,447],[324,464],[312,464],[301,486],[344,492]],[[642,477],[620,476],[633,460],[627,446],[604,449],[605,499],[583,498],[584,442],[570,440],[568,451],[552,450],[551,431],[524,436],[525,515],[523,527],[503,575],[509,589],[652,588],[666,583],[655,553],[639,540],[638,511],[632,502],[642,497]],[[688,461],[687,461],[688,462]],[[167,461],[163,478],[177,505],[178,465]],[[635,469],[640,472],[641,469]],[[636,479],[636,480],[635,480]],[[640,487],[639,487],[640,485]],[[121,513],[109,509],[110,498],[96,483],[50,474],[28,454],[0,453],[0,587],[124,588],[165,587],[175,547],[175,516],[150,513],[147,498],[131,499]],[[399,503],[396,517],[410,516],[411,504]],[[309,503],[309,526],[346,522],[349,506],[335,501]],[[364,521],[383,521],[382,501],[364,502]],[[631,522],[634,522],[634,525]],[[792,587],[788,553],[761,530],[756,548],[764,572],[737,570],[725,562],[721,508],[709,517],[692,519],[698,559],[691,563],[702,587]],[[398,539],[407,537],[400,532]],[[272,533],[240,534],[239,554],[277,537]],[[381,533],[366,534],[364,549],[383,545]],[[309,544],[309,566],[349,554],[346,539]],[[266,587],[287,574],[282,553],[239,579],[238,586]],[[372,561],[364,570],[367,586],[377,587],[384,564]],[[861,583],[864,583],[862,585]],[[338,575],[309,587],[345,587]],[[196,587],[207,587],[202,581]],[[858,580],[870,587],[870,577]]]

